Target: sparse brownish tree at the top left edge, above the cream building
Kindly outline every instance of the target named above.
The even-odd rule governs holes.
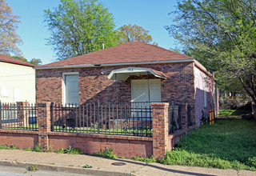
[[[0,53],[21,55],[18,44],[22,40],[16,34],[18,27],[18,16],[8,6],[6,0],[0,0]]]

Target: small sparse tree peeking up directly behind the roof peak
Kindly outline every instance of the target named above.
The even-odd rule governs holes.
[[[149,30],[145,30],[142,26],[138,25],[123,25],[118,29],[119,43],[126,43],[132,41],[152,42],[152,36]],[[158,43],[154,42],[154,45]]]

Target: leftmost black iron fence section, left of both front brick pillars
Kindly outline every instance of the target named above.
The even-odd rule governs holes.
[[[0,128],[12,130],[38,130],[37,106],[0,102]]]

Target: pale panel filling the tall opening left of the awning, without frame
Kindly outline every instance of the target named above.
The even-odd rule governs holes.
[[[79,103],[78,74],[65,75],[66,104]]]

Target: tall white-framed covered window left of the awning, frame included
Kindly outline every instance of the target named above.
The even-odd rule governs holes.
[[[78,73],[63,73],[63,104],[79,104]]]

